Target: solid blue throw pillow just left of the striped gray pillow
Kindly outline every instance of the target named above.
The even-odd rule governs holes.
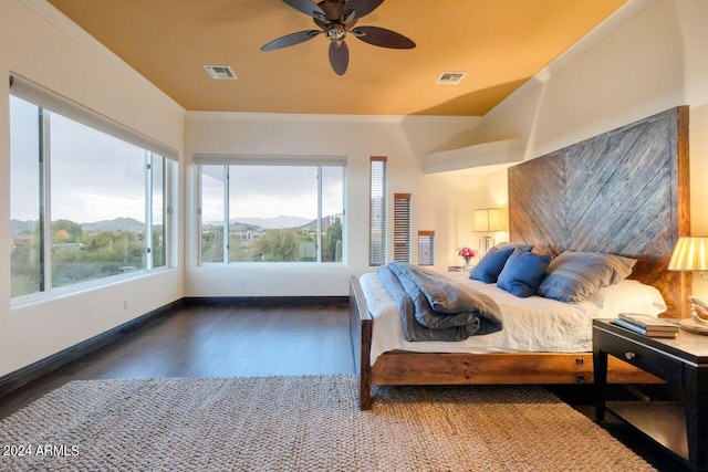
[[[497,286],[521,298],[529,297],[535,294],[550,263],[550,255],[533,254],[517,248],[499,274]]]

